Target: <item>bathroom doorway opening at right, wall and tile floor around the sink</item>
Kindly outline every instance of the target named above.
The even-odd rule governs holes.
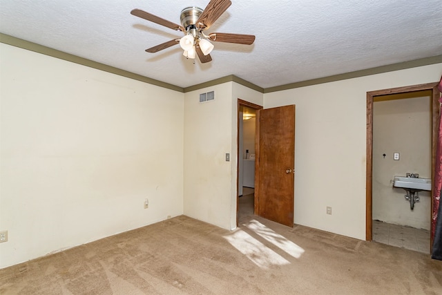
[[[410,198],[393,182],[407,173],[431,178],[431,91],[378,95],[373,102],[372,240],[428,254],[431,193]]]

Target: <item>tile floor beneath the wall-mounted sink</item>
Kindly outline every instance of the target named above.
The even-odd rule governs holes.
[[[430,254],[430,231],[373,220],[373,240]]]

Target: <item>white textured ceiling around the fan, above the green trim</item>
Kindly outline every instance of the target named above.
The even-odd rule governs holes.
[[[180,23],[209,0],[0,0],[0,32],[180,87],[236,75],[262,88],[442,55],[441,0],[231,0],[208,32],[256,35],[214,42],[213,61],[180,46],[144,50],[182,33],[130,14]]]

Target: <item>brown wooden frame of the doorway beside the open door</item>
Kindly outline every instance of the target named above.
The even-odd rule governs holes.
[[[255,111],[262,110],[264,107],[260,106],[259,104],[253,104],[251,102],[246,102],[245,100],[242,100],[238,98],[237,102],[237,122],[236,122],[236,155],[237,155],[237,161],[236,161],[236,226],[238,227],[238,221],[239,221],[239,213],[240,213],[240,196],[238,196],[239,191],[239,181],[240,181],[240,160],[242,160],[242,151],[240,151],[240,120],[242,120],[242,117],[240,117],[240,107],[244,106],[247,108],[252,108]],[[259,120],[256,120],[256,131],[259,131],[260,128],[260,122]],[[256,134],[258,134],[255,131],[255,148],[256,148],[256,142],[258,141],[258,138],[256,137]],[[255,152],[256,153],[256,152]],[[257,168],[257,162],[255,162],[255,182],[256,182],[256,168]],[[256,202],[256,198],[254,200]],[[253,209],[253,212],[256,214],[256,204],[255,208]]]

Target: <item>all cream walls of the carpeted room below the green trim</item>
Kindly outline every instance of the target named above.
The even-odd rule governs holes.
[[[296,104],[294,222],[365,239],[366,93],[442,75],[434,64],[265,95],[236,82],[183,94],[0,46],[0,267],[169,215],[235,228],[238,98]],[[206,91],[215,101],[199,104]]]

